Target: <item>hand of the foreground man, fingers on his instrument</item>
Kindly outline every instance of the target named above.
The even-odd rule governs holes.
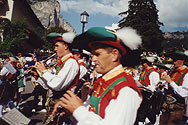
[[[71,113],[83,105],[83,101],[70,90],[60,100],[62,102],[61,106]]]

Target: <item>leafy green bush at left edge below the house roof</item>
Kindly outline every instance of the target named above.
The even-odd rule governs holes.
[[[13,54],[24,50],[24,43],[26,42],[27,30],[25,21],[9,21],[8,19],[1,20],[1,27],[3,30],[3,41],[0,43],[2,52],[11,52]]]

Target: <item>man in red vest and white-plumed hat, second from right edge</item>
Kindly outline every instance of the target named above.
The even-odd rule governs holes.
[[[157,84],[160,82],[160,75],[157,70],[152,66],[156,58],[153,56],[143,56],[141,58],[141,64],[143,71],[140,74],[139,82],[141,87],[141,93],[143,95],[143,102],[138,110],[139,124],[159,124],[159,115],[156,107],[157,102],[155,96],[151,96],[156,90]]]

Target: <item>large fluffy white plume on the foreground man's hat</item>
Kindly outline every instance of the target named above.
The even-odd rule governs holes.
[[[131,27],[119,29],[115,34],[131,50],[138,49],[138,47],[142,44],[141,37],[137,34],[136,30]]]

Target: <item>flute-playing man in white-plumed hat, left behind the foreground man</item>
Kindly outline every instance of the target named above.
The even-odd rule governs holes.
[[[48,118],[48,115],[53,110],[52,107],[55,102],[62,97],[66,90],[73,90],[78,83],[80,75],[79,64],[71,53],[71,44],[74,36],[75,34],[71,32],[64,34],[50,33],[47,35],[47,39],[55,43],[54,50],[59,58],[55,74],[49,72],[42,62],[37,62],[35,65],[35,68],[41,73],[41,77],[46,80],[46,85],[53,93],[49,101],[49,107],[51,108],[49,111],[47,107],[47,116],[45,119]]]

